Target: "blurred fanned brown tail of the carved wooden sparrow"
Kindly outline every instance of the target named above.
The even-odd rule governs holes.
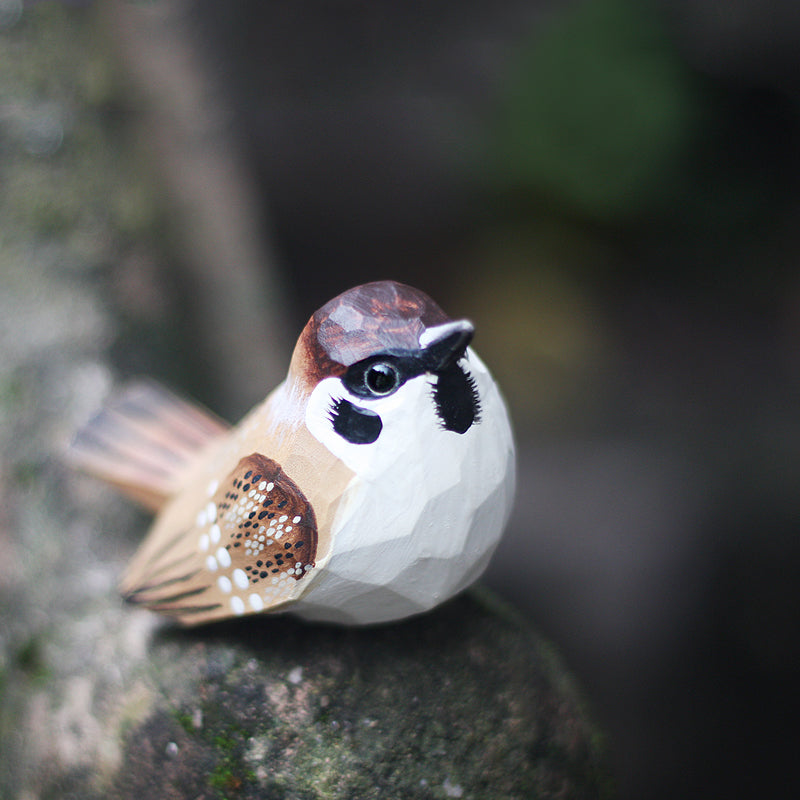
[[[227,423],[150,381],[123,387],[78,431],[68,462],[157,511]]]

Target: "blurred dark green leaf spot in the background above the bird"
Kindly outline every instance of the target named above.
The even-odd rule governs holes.
[[[533,34],[498,113],[499,181],[604,222],[662,203],[703,100],[656,9],[583,0]]]

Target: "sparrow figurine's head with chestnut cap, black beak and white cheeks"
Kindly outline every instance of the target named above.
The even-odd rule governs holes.
[[[376,447],[397,452],[412,433],[467,434],[481,416],[467,350],[473,330],[403,284],[344,292],[311,317],[292,358],[306,425],[356,470]]]

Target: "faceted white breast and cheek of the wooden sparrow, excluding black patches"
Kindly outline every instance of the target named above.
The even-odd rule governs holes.
[[[355,473],[333,523],[327,563],[292,611],[308,619],[371,623],[427,610],[486,567],[511,508],[515,468],[511,426],[491,375],[468,350],[480,421],[444,430],[431,392],[435,377],[409,380],[393,395],[363,400],[328,378],[306,412],[311,433]],[[329,421],[346,397],[381,417],[373,444],[351,444]]]

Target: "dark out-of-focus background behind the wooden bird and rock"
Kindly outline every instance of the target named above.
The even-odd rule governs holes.
[[[620,796],[798,796],[800,5],[52,5],[92,15],[80,91],[148,176],[158,253],[102,273],[120,373],[235,419],[359,282],[472,318],[519,444],[486,581]]]

